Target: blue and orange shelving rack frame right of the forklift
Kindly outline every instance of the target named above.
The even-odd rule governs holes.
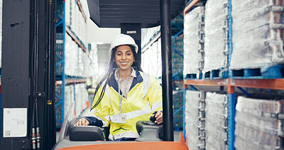
[[[203,3],[203,4],[202,4]],[[194,6],[202,6],[204,5],[204,0],[190,0],[187,3],[187,6],[184,10],[184,15],[187,14]],[[229,0],[229,55],[228,55],[228,63],[231,60],[231,53],[233,51],[232,48],[232,18],[231,18],[231,0]],[[228,70],[229,71],[229,70]],[[269,90],[284,90],[284,79],[283,78],[273,78],[273,79],[248,79],[246,77],[236,78],[236,77],[229,77],[224,79],[185,79],[184,80],[184,104],[185,104],[185,92],[186,90],[197,90],[195,85],[201,86],[214,86],[220,87],[220,90],[224,90],[224,87],[227,87],[227,94],[228,94],[228,148],[230,150],[234,149],[234,130],[235,130],[235,88],[237,87],[241,92],[244,92],[245,95],[249,96],[249,93],[246,92],[242,87],[250,87],[250,88],[258,88],[258,89],[269,89]],[[183,111],[185,114],[185,105],[183,107]],[[185,115],[184,115],[185,120]],[[185,122],[183,124],[184,130],[183,135],[185,137]]]

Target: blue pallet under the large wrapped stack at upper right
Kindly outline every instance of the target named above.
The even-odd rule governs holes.
[[[229,70],[231,78],[251,78],[251,79],[275,79],[284,78],[284,65],[274,65],[271,67]]]

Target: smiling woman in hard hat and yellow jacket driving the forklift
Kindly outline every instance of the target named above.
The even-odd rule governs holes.
[[[121,34],[111,42],[109,70],[94,92],[91,112],[77,126],[108,127],[111,140],[135,140],[136,122],[156,117],[163,122],[162,88],[152,75],[142,72],[138,46],[131,36]]]

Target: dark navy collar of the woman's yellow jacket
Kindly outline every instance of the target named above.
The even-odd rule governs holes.
[[[135,68],[134,68],[135,69]],[[136,69],[135,69],[136,70]],[[111,77],[109,77],[109,82],[107,83],[110,87],[113,87],[114,90],[116,90],[116,92],[119,92],[119,85],[117,84],[116,80],[115,80],[115,77],[114,77],[115,73],[113,73],[111,75]],[[135,86],[137,85],[138,83],[141,83],[143,82],[143,78],[140,74],[140,72],[138,70],[136,70],[136,77],[133,78],[133,81],[132,81],[132,84],[131,84],[131,87],[129,89],[129,91]],[[122,92],[121,92],[122,93]]]

